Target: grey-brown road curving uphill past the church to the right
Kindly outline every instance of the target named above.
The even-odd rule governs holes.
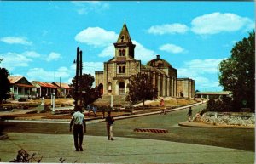
[[[206,105],[193,107],[193,114]],[[187,119],[188,109],[168,112],[167,115],[141,116],[114,122],[113,135],[137,139],[158,139],[189,144],[214,145],[238,150],[254,151],[254,129],[179,127]],[[5,132],[69,134],[68,122],[64,123],[8,123]],[[135,128],[161,128],[169,133],[137,133]],[[87,125],[86,135],[106,136],[105,122]],[[236,136],[236,137],[234,137]]]

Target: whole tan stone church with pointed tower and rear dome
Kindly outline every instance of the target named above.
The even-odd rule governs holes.
[[[126,95],[129,91],[129,77],[138,73],[146,73],[151,77],[154,88],[160,97],[193,98],[195,81],[189,78],[177,78],[177,70],[165,59],[157,55],[146,65],[135,59],[136,45],[131,42],[127,26],[124,24],[117,42],[113,43],[115,54],[104,62],[104,71],[96,71],[96,86],[103,95]]]

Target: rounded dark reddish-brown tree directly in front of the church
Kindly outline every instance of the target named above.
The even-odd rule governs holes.
[[[157,98],[157,88],[153,87],[148,74],[139,73],[136,76],[131,76],[129,80],[130,82],[127,85],[129,93],[126,96],[126,99],[132,104],[143,100],[144,106],[145,100]]]

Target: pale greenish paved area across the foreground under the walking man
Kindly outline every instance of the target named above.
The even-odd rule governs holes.
[[[254,163],[254,152],[154,139],[85,136],[84,151],[74,151],[72,134],[8,133],[0,140],[2,162],[15,159],[21,148],[41,162],[60,163]],[[36,161],[33,161],[36,162]]]

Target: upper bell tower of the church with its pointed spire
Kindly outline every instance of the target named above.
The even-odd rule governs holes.
[[[115,48],[115,58],[131,57],[134,59],[135,44],[131,42],[131,37],[126,24],[123,25],[123,28],[119,34],[119,38],[117,42],[113,43],[113,45]]]

